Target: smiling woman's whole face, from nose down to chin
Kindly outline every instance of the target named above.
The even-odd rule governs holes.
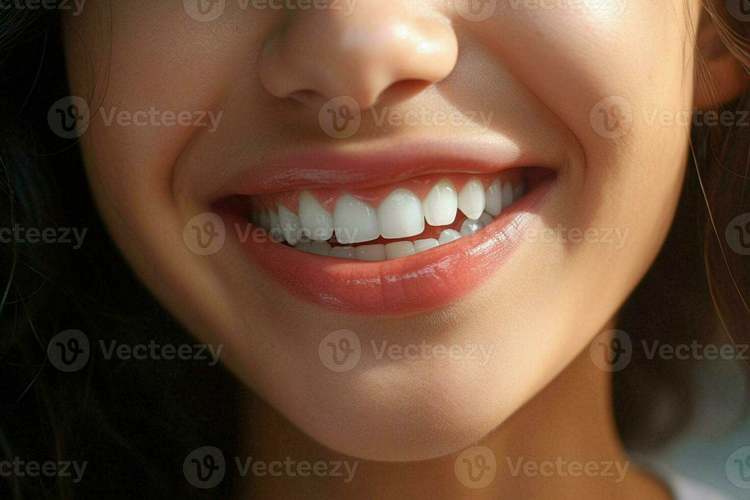
[[[697,12],[89,0],[65,38],[92,189],[154,295],[318,442],[417,460],[537,394],[652,262]]]

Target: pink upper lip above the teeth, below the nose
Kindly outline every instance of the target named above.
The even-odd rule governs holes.
[[[401,142],[387,147],[303,149],[268,157],[231,178],[223,195],[254,195],[324,187],[368,188],[441,172],[490,173],[519,166],[554,169],[511,142]]]

